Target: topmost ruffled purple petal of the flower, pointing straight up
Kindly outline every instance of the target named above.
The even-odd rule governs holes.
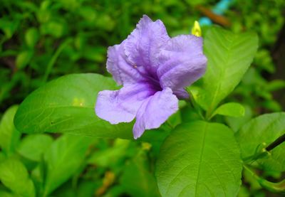
[[[125,54],[133,65],[144,67],[149,75],[156,76],[157,54],[169,39],[162,21],[153,22],[144,15],[125,41]]]

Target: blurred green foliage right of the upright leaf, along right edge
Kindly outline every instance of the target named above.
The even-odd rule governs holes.
[[[272,92],[285,87],[285,77],[268,82],[264,76],[268,79],[276,70],[271,56],[277,38],[281,36],[279,31],[284,26],[285,2],[282,0],[236,2],[237,4],[234,4],[233,9],[228,12],[228,17],[232,21],[231,29],[234,32],[257,32],[259,50],[252,68],[248,70],[234,95],[251,106],[255,115],[261,112],[282,111],[284,106],[274,100]]]

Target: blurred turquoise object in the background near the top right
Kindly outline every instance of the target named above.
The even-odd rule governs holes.
[[[214,14],[223,15],[224,12],[229,9],[229,6],[231,6],[233,2],[234,0],[221,0],[219,1],[219,3],[216,4],[216,6],[214,6],[212,12]],[[199,19],[199,24],[200,26],[211,26],[212,21],[208,17],[202,17]]]

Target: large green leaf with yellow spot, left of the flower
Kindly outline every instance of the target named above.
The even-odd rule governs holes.
[[[21,103],[15,117],[20,132],[63,132],[94,137],[133,138],[131,124],[110,124],[95,115],[98,92],[115,90],[98,74],[66,75],[39,88]]]

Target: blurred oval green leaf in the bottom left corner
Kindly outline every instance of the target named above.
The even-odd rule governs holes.
[[[24,164],[17,159],[6,159],[0,164],[0,180],[19,196],[35,196],[33,181],[29,178]]]

